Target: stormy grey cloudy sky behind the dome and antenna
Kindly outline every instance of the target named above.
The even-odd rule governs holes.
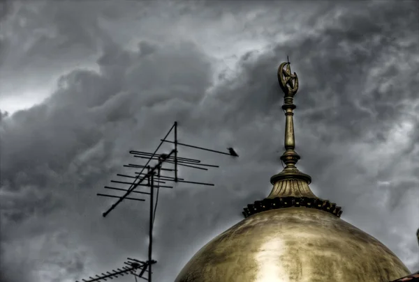
[[[215,187],[160,194],[154,281],[173,281],[281,170],[287,55],[311,189],[419,269],[418,3],[1,2],[1,281],[75,281],[145,259],[147,202],[103,219],[114,201],[96,193],[177,120],[179,141],[240,158],[180,150],[221,167],[180,172]]]

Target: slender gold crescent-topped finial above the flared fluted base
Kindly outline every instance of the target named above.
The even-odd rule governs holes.
[[[284,171],[272,176],[271,183],[274,184],[279,180],[284,179],[299,179],[304,180],[308,184],[311,182],[311,177],[307,174],[301,173],[295,167],[300,155],[295,152],[295,136],[294,136],[294,123],[293,123],[293,110],[296,108],[293,104],[294,95],[298,91],[298,77],[297,74],[291,73],[291,63],[287,56],[287,63],[281,63],[278,69],[278,81],[282,91],[284,91],[284,104],[282,109],[285,112],[285,152],[281,156],[282,162],[286,164]]]

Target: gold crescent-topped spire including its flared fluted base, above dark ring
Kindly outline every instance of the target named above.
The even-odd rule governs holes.
[[[296,108],[293,104],[294,95],[298,91],[298,77],[297,74],[291,73],[291,63],[281,63],[278,69],[278,81],[284,92],[284,104],[282,109],[285,113],[285,152],[281,156],[281,161],[286,164],[283,171],[273,175],[270,182],[274,185],[274,189],[268,198],[273,196],[280,196],[279,194],[287,194],[288,196],[307,196],[310,198],[317,198],[309,188],[311,177],[305,173],[300,172],[295,164],[300,159],[300,155],[295,152],[295,136],[293,123],[293,110]],[[288,181],[289,180],[289,181]],[[283,186],[286,187],[283,187]],[[284,191],[285,190],[285,191]],[[280,193],[280,192],[283,193]],[[284,195],[282,195],[284,196]]]

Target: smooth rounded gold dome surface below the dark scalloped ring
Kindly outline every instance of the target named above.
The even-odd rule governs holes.
[[[385,282],[409,270],[383,244],[305,207],[254,214],[206,244],[176,282]]]

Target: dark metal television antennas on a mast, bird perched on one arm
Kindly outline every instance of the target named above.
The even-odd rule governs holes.
[[[152,265],[156,264],[156,260],[152,258],[152,246],[153,246],[153,225],[154,219],[156,216],[156,208],[157,203],[159,201],[159,191],[161,188],[173,188],[172,186],[166,185],[166,182],[175,182],[175,183],[189,183],[193,185],[205,185],[205,186],[214,186],[212,183],[205,183],[205,182],[195,182],[195,181],[188,181],[184,180],[184,178],[178,177],[178,166],[184,166],[189,169],[199,169],[202,171],[207,171],[209,168],[218,168],[219,166],[212,165],[212,164],[202,164],[200,159],[191,159],[186,157],[179,157],[178,156],[178,146],[184,146],[188,148],[198,149],[198,150],[205,150],[208,152],[214,152],[222,155],[229,155],[231,157],[238,157],[237,153],[233,148],[227,148],[228,152],[221,152],[218,150],[211,150],[208,148],[202,148],[198,146],[192,146],[185,143],[179,143],[177,141],[177,122],[172,125],[166,136],[161,139],[159,146],[157,146],[154,152],[142,152],[131,150],[129,153],[133,155],[133,157],[138,157],[140,159],[147,159],[147,163],[142,164],[127,164],[124,167],[130,169],[141,169],[140,172],[134,173],[135,175],[126,175],[126,174],[117,174],[117,176],[122,178],[130,178],[133,179],[131,182],[128,180],[120,181],[120,180],[111,180],[112,183],[129,185],[128,189],[118,188],[118,187],[110,187],[105,186],[105,189],[115,190],[115,191],[124,191],[125,193],[122,196],[112,195],[112,194],[101,194],[98,193],[98,196],[105,196],[110,198],[118,198],[118,200],[110,206],[108,210],[103,212],[103,217],[108,216],[112,210],[122,203],[124,200],[132,200],[132,201],[145,201],[143,198],[133,198],[128,197],[131,194],[143,194],[149,196],[149,246],[148,246],[148,259],[147,260],[137,260],[135,258],[127,258],[127,261],[124,262],[125,265],[121,268],[112,269],[111,272],[102,273],[100,275],[96,275],[96,277],[89,277],[89,279],[82,279],[83,282],[94,282],[94,281],[107,281],[108,279],[115,279],[119,276],[124,276],[127,274],[131,274],[135,277],[135,281],[138,278],[144,279],[146,281],[152,282]],[[170,133],[173,132],[173,141],[167,140]],[[157,152],[163,145],[163,143],[172,143],[174,148],[170,150],[168,153],[161,153],[158,154]],[[150,165],[150,162],[156,161],[154,166]],[[172,168],[163,168],[164,164],[171,164]],[[170,173],[172,172],[173,176],[162,175],[162,173]],[[163,185],[162,185],[163,184]],[[149,191],[134,191],[138,187],[148,187]],[[154,195],[154,189],[156,189],[156,197]],[[154,202],[154,198],[156,201]],[[145,277],[147,274],[147,277]],[[76,281],[79,282],[79,281]]]

